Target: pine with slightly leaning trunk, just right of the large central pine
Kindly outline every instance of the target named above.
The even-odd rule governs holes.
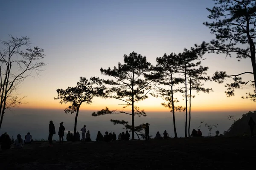
[[[178,85],[182,81],[181,78],[175,77],[179,72],[177,54],[164,54],[163,57],[157,57],[156,61],[157,65],[155,66],[154,70],[162,76],[155,80],[158,84],[157,95],[153,94],[153,96],[157,97],[160,95],[164,100],[166,100],[166,102],[162,103],[162,105],[171,109],[174,134],[175,138],[177,138],[175,111],[185,110],[185,108],[182,106],[175,106],[175,102],[179,102],[179,100],[174,97],[174,93],[177,92],[175,91],[174,86]]]

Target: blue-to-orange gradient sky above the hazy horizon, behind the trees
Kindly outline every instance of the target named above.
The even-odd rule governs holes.
[[[179,53],[195,43],[214,36],[203,25],[214,2],[211,0],[9,0],[0,2],[0,40],[29,36],[32,45],[45,50],[47,65],[41,76],[29,77],[19,89],[27,96],[23,108],[63,109],[53,97],[56,89],[76,85],[79,77],[99,76],[101,67],[123,62],[124,54],[135,51],[156,64],[164,53]],[[216,70],[238,74],[252,71],[250,60],[237,62],[236,56],[207,54],[202,62],[208,75]],[[249,80],[251,77],[244,77]],[[230,82],[228,80],[227,82]],[[255,103],[241,99],[249,85],[227,98],[224,84],[205,83],[211,94],[198,94],[192,100],[195,111],[253,111]],[[145,111],[166,111],[162,99],[149,97],[138,103]],[[114,99],[95,98],[82,109],[120,107]],[[180,102],[184,105],[184,101]]]

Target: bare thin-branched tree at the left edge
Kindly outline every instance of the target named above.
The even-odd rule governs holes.
[[[32,76],[45,65],[44,62],[37,62],[44,58],[44,49],[26,48],[30,45],[28,37],[15,38],[9,35],[10,40],[0,41],[0,129],[6,109],[17,107],[24,98],[18,98],[17,89],[26,77]],[[26,48],[26,51],[22,49]]]

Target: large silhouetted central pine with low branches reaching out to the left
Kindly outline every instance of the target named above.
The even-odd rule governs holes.
[[[150,83],[152,81],[148,80],[146,76],[150,71],[150,67],[151,63],[147,62],[146,57],[132,52],[129,56],[124,56],[124,64],[119,62],[118,66],[115,66],[113,69],[101,68],[100,71],[102,74],[113,78],[104,80],[106,85],[111,85],[106,91],[106,96],[125,102],[123,108],[131,106],[131,113],[117,110],[110,111],[106,108],[97,113],[93,113],[92,116],[112,113],[125,113],[131,115],[131,139],[134,139],[134,116],[146,116],[145,111],[140,110],[134,103],[147,98],[147,94],[151,88]]]

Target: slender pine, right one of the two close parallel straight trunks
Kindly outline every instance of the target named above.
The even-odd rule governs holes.
[[[202,91],[204,93],[209,93],[212,91],[212,88],[204,88],[204,83],[202,81],[207,81],[210,78],[206,77],[206,71],[208,70],[208,67],[201,66],[201,61],[197,62],[195,66],[198,66],[198,68],[192,68],[188,70],[189,75],[189,127],[188,127],[188,133],[190,136],[190,123],[191,123],[191,99],[195,97],[195,95],[192,95],[192,90],[195,90],[197,93]]]

